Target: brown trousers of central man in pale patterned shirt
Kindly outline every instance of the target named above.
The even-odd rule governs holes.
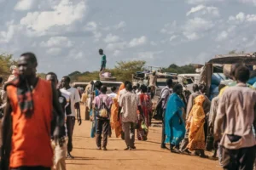
[[[125,132],[125,143],[127,147],[133,148],[135,141],[135,122],[123,122]]]

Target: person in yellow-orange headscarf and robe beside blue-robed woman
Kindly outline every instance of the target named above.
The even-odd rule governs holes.
[[[199,95],[195,98],[195,105],[193,105],[192,110],[189,113],[187,121],[187,129],[189,128],[189,144],[188,149],[193,151],[195,154],[201,157],[205,156],[205,111],[203,109],[203,103],[206,100],[204,95]]]

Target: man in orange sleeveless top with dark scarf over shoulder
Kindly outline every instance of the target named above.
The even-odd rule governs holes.
[[[1,169],[48,170],[53,165],[50,144],[53,110],[56,142],[61,136],[64,114],[54,85],[36,77],[37,66],[35,54],[21,54],[19,76],[5,86],[8,99],[3,116]]]

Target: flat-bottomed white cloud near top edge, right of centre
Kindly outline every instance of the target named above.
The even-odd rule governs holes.
[[[187,16],[189,16],[190,14],[201,14],[201,15],[211,14],[212,16],[219,16],[219,11],[218,11],[218,8],[216,7],[207,7],[205,5],[198,5],[196,7],[191,8],[187,13]]]

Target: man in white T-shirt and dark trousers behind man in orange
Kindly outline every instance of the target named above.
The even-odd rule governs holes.
[[[77,119],[79,122],[79,125],[81,125],[82,120],[80,116],[80,95],[79,90],[77,88],[70,87],[70,78],[69,77],[63,77],[61,79],[61,94],[67,99],[67,105],[66,107],[66,114],[67,114],[67,136],[68,136],[68,142],[67,142],[67,158],[74,158],[70,152],[73,150],[73,128],[75,125],[75,116],[76,116],[76,109],[77,112]]]

